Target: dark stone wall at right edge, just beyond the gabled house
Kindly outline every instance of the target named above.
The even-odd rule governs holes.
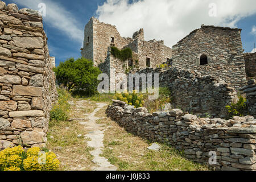
[[[256,77],[256,52],[245,53],[245,71],[247,77]]]

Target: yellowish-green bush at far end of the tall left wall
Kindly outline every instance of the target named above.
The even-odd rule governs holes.
[[[71,98],[71,94],[65,89],[57,89],[59,98],[57,104],[52,107],[50,111],[50,119],[56,121],[67,121],[69,118],[70,105],[68,100]]]

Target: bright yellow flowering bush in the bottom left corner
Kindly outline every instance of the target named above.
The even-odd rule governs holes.
[[[21,146],[6,148],[0,152],[0,171],[56,171],[60,162],[53,152],[46,152],[45,164],[39,163],[39,147],[25,151]]]

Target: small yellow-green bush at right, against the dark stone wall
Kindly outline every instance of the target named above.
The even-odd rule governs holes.
[[[246,99],[243,96],[238,96],[239,101],[235,104],[232,103],[230,106],[226,106],[226,110],[228,110],[229,117],[232,118],[233,116],[245,116],[247,107],[246,107]]]

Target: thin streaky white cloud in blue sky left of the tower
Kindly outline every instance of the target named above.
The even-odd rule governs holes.
[[[38,5],[42,3],[42,0],[13,0],[13,2],[30,9],[39,10]],[[43,3],[46,4],[46,16],[43,17],[44,21],[63,32],[72,40],[79,41],[82,44],[84,32],[77,26],[79,22],[76,21],[76,18],[56,2],[45,0]]]

